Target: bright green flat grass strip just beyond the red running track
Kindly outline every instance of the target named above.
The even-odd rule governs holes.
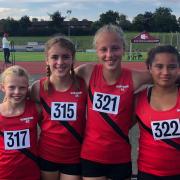
[[[143,61],[146,58],[146,53],[141,53],[142,57],[138,60],[137,58],[133,61]],[[136,56],[136,54],[133,54]],[[3,52],[0,52],[0,60],[2,61],[3,58]],[[11,57],[10,57],[11,59]],[[43,52],[15,52],[15,59],[16,61],[44,61],[44,53]],[[76,60],[77,61],[97,61],[96,53],[90,53],[90,52],[77,52],[76,53]],[[128,54],[125,54],[125,57],[123,58],[124,61],[128,61]]]

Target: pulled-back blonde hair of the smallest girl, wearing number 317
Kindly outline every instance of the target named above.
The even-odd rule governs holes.
[[[4,81],[6,79],[6,77],[8,76],[20,76],[20,77],[26,77],[28,82],[29,82],[29,74],[27,72],[26,69],[24,69],[21,66],[18,65],[14,65],[11,67],[8,67],[7,69],[5,69],[2,74],[1,74],[1,78],[0,78],[0,82],[1,84],[4,84]]]

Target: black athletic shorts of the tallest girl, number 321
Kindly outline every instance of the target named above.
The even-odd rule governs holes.
[[[131,162],[122,164],[102,164],[86,159],[81,159],[82,176],[101,177],[106,176],[112,180],[124,180],[132,174]]]

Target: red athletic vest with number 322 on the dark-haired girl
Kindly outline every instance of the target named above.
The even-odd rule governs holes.
[[[180,134],[180,96],[177,104],[167,111],[156,111],[148,103],[147,90],[138,96],[136,114],[139,117],[140,139],[138,168],[142,172],[157,176],[180,175],[180,137],[167,139],[172,133]],[[152,124],[152,125],[151,125]],[[145,129],[146,126],[153,135]],[[179,127],[179,130],[177,129]],[[163,138],[156,139],[155,138]],[[179,144],[179,145],[178,145]]]

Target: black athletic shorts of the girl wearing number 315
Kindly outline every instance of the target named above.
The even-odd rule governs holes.
[[[39,166],[42,171],[59,171],[68,175],[81,175],[81,164],[54,163],[43,158],[39,158]]]

